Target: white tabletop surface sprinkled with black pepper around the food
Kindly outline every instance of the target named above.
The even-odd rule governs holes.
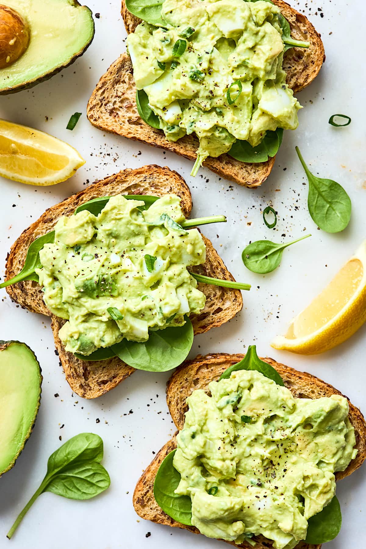
[[[87,100],[99,77],[125,51],[126,37],[119,0],[89,0],[89,7],[93,13],[100,13],[100,19],[95,19],[95,38],[86,54],[52,80],[29,91],[0,97],[1,117],[64,139],[86,159],[85,166],[70,181],[54,187],[1,180],[0,275],[3,277],[10,245],[49,206],[79,191],[86,182],[125,167],[168,165],[189,184],[193,216],[227,215],[226,225],[205,227],[204,233],[213,240],[235,278],[252,284],[251,291],[243,294],[243,311],[221,328],[196,337],[192,357],[198,352],[241,352],[245,346],[256,344],[258,354],[316,374],[365,411],[366,326],[345,344],[320,356],[297,356],[275,351],[269,345],[366,238],[363,5],[361,0],[348,5],[341,0],[300,2],[303,13],[322,33],[326,62],[316,81],[298,96],[304,107],[299,113],[300,126],[296,132],[285,132],[271,176],[262,187],[250,190],[219,180],[207,169],[193,180],[188,160],[119,136],[104,135],[89,124]],[[297,4],[294,7],[299,9]],[[82,118],[73,132],[67,131],[67,121],[75,111],[82,112]],[[328,119],[334,113],[351,116],[351,125],[330,126]],[[311,170],[333,178],[350,194],[352,219],[343,233],[319,231],[311,220],[307,182],[295,145],[299,145]],[[261,212],[267,205],[278,210],[278,223],[272,230],[262,220]],[[286,249],[280,267],[272,274],[255,275],[241,262],[241,251],[250,240],[284,242],[306,234],[304,231],[311,232],[312,238]],[[105,396],[83,400],[71,393],[64,379],[48,318],[22,310],[10,301],[5,290],[1,290],[0,297],[0,338],[29,344],[43,373],[36,427],[15,467],[0,480],[0,547],[157,549],[174,544],[176,549],[183,549],[187,543],[205,549],[227,547],[223,542],[139,520],[134,512],[132,493],[136,481],[153,453],[174,431],[165,401],[168,373],[136,372]],[[111,477],[109,490],[85,502],[43,494],[8,541],[5,534],[38,488],[48,456],[61,444],[59,436],[65,442],[85,431],[98,433],[104,440],[103,464]],[[327,549],[360,546],[366,511],[365,475],[362,467],[338,485],[343,526]],[[151,535],[146,538],[148,532]]]

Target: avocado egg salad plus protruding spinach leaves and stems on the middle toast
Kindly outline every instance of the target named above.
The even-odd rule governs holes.
[[[199,282],[250,285],[190,273],[206,247],[194,227],[224,216],[185,220],[181,198],[102,197],[62,216],[28,250],[22,271],[2,287],[32,279],[53,315],[59,338],[85,360],[119,356],[135,368],[172,369],[193,343],[192,314],[204,309]]]

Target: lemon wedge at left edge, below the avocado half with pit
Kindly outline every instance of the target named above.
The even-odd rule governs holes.
[[[64,141],[27,126],[0,120],[0,175],[29,185],[69,179],[85,160]]]

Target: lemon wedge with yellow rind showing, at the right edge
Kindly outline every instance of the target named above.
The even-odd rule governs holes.
[[[316,355],[350,338],[366,321],[366,240],[311,304],[292,320],[274,349]]]

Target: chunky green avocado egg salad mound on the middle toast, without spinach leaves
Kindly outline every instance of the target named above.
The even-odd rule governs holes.
[[[206,248],[197,229],[178,225],[179,203],[165,195],[140,211],[142,201],[117,195],[98,216],[83,210],[58,220],[36,272],[48,309],[68,321],[59,331],[67,351],[146,341],[149,330],[182,326],[183,315],[204,308],[187,267],[204,263]]]

